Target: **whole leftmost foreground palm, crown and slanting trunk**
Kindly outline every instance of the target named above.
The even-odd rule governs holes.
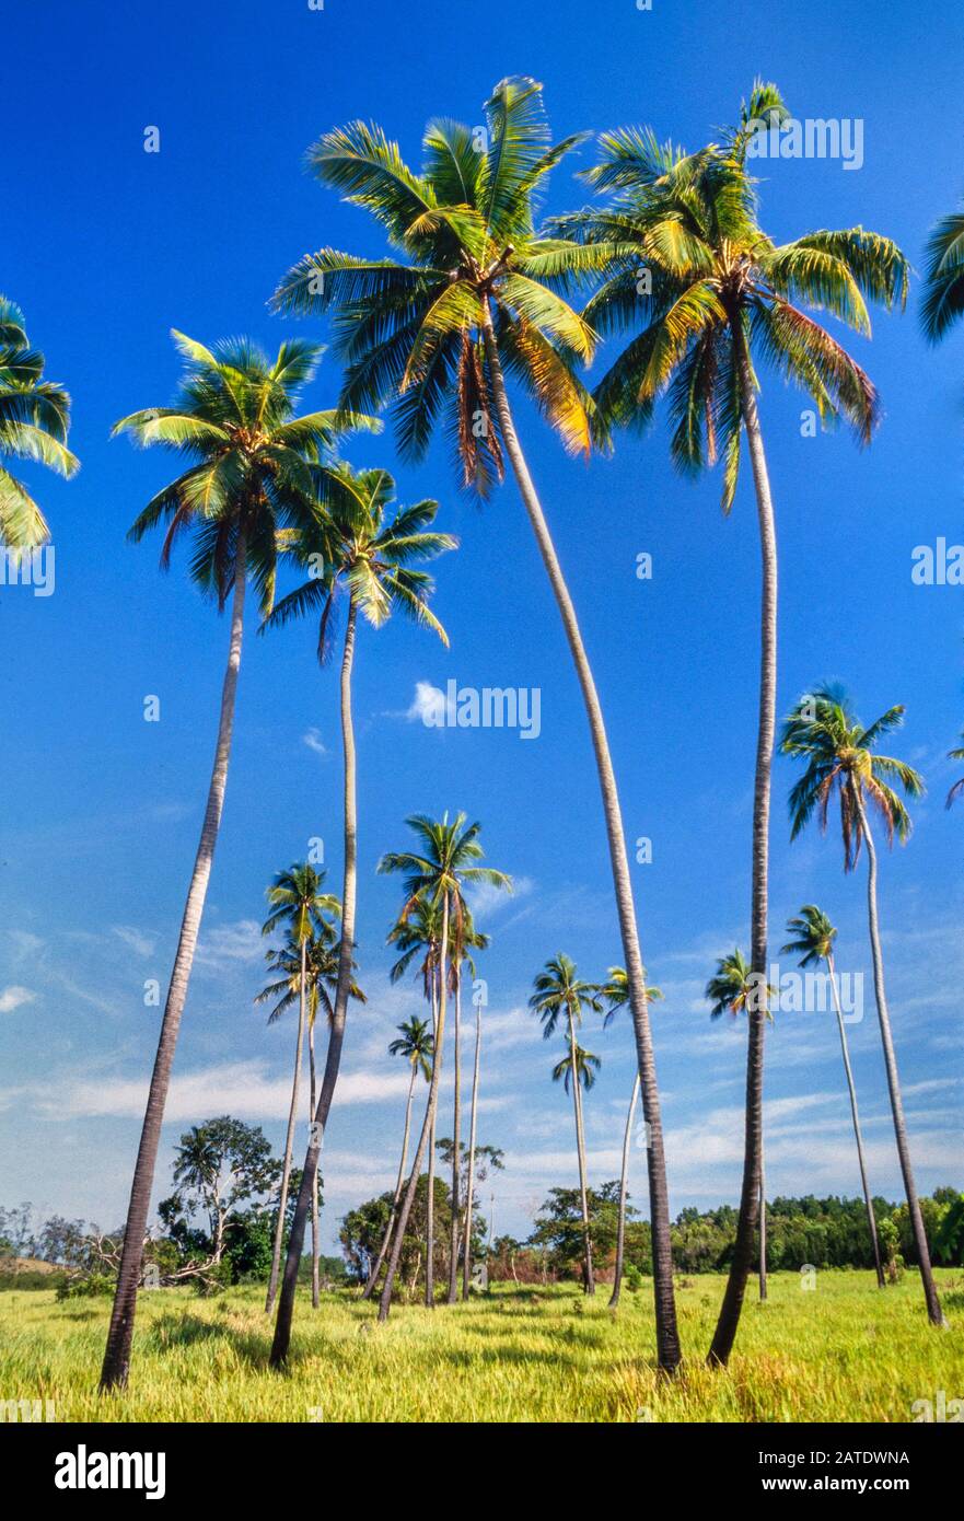
[[[179,535],[193,529],[192,576],[217,599],[219,611],[231,596],[228,663],[220,695],[217,747],[178,937],[164,1021],[158,1039],[144,1124],[141,1130],[114,1310],[108,1331],[100,1389],[123,1387],[131,1363],[137,1284],[151,1205],[157,1150],[164,1119],[181,1015],[198,945],[211,861],[228,780],[234,697],[242,654],[245,587],[252,581],[262,610],[274,598],[278,535],[301,516],[310,470],[331,458],[341,435],[377,426],[348,412],[309,412],[295,417],[301,388],[312,379],[321,350],[313,344],[281,344],[268,359],[249,339],[230,339],[213,350],[173,333],[186,360],[186,374],[173,406],[132,412],[114,433],[135,443],[161,444],[179,462],[192,464],[154,496],[137,517],[129,537],[167,520],[161,566],[170,563]]]

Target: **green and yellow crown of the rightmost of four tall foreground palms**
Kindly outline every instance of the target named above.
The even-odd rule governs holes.
[[[722,456],[727,511],[739,473],[744,364],[753,374],[757,354],[809,392],[821,420],[842,415],[868,441],[874,386],[797,303],[868,335],[865,298],[888,309],[906,298],[908,265],[886,237],[855,227],[775,245],[762,230],[747,148],[754,125],[774,114],[786,114],[778,91],[757,82],[739,131],[696,154],[648,128],[607,132],[584,178],[614,192],[611,204],[552,224],[610,246],[585,319],[601,333],[637,329],[596,388],[598,424],[645,426],[669,389],[672,458],[696,473]]]

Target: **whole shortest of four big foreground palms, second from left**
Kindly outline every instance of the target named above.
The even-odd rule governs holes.
[[[269,622],[284,624],[292,618],[318,614],[318,657],[324,663],[333,648],[336,605],[342,593],[348,602],[341,666],[345,773],[342,940],[325,1071],[287,1240],[284,1282],[271,1351],[272,1367],[278,1367],[287,1357],[304,1229],[345,1039],[357,876],[357,782],[351,719],[356,622],[360,613],[374,628],[382,628],[391,614],[398,611],[432,628],[447,645],[449,636],[429,607],[432,576],[417,569],[417,564],[456,546],[450,534],[435,532],[430,526],[438,513],[438,502],[426,500],[392,511],[395,482],[386,470],[353,472],[348,465],[342,465],[324,475],[316,472],[315,485],[318,494],[313,510],[303,517],[298,531],[289,540],[290,555],[307,570],[309,580],[277,604]]]

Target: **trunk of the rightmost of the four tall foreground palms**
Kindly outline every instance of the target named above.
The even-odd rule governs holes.
[[[760,694],[757,715],[757,754],[753,789],[753,890],[750,908],[751,970],[756,998],[748,1005],[747,1033],[747,1121],[744,1136],[744,1186],[736,1221],[736,1246],[724,1302],[719,1310],[707,1361],[725,1366],[739,1326],[747,1278],[753,1262],[753,1241],[760,1205],[760,1167],[763,1159],[763,1033],[766,1028],[768,923],[766,891],[769,867],[769,773],[777,722],[777,529],[769,493],[769,473],[763,452],[760,415],[750,370],[750,356],[739,321],[733,324],[739,365],[740,405],[753,467],[760,531]]]

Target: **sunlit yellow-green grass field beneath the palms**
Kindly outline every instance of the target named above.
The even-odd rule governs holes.
[[[58,1421],[888,1421],[944,1390],[964,1398],[964,1275],[943,1272],[950,1331],[928,1325],[920,1281],[880,1293],[868,1273],[775,1273],[750,1297],[727,1373],[702,1366],[724,1279],[680,1284],[684,1377],[654,1373],[649,1284],[607,1310],[576,1285],[514,1288],[386,1326],[350,1293],[301,1300],[290,1367],[268,1369],[263,1288],[202,1300],[140,1296],[131,1387],[94,1393],[108,1300],[0,1294],[0,1399],[52,1399]],[[754,1285],[751,1285],[754,1287]]]

